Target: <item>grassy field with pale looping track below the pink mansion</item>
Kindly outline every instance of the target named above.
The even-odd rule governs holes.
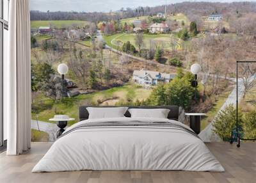
[[[135,34],[126,34],[126,33],[118,33],[111,36],[104,36],[104,40],[106,44],[115,49],[121,47],[125,42],[129,41],[132,45],[136,47],[135,44]],[[159,34],[159,35],[144,35],[144,48],[149,48],[150,40],[154,40],[154,43],[157,46],[163,47],[163,49],[171,49],[170,47],[170,34]],[[175,44],[177,49],[180,49],[181,40],[179,38],[174,37]],[[138,49],[138,47],[137,47]]]

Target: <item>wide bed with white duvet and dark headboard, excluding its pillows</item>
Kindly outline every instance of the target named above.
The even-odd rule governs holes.
[[[225,171],[204,142],[178,122],[178,106],[167,118],[88,119],[79,107],[80,122],[68,127],[32,172],[76,170]],[[138,107],[129,107],[138,108]]]

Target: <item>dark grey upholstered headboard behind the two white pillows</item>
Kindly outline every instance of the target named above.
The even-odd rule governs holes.
[[[79,107],[79,122],[83,120],[87,120],[89,117],[89,113],[86,107],[95,107],[95,106],[80,106]],[[118,106],[97,106],[97,107],[118,107]],[[170,120],[179,120],[179,106],[122,106],[131,108],[139,108],[139,109],[170,109],[170,113],[168,114],[168,119]],[[126,111],[124,114],[126,117],[131,117],[129,111]]]

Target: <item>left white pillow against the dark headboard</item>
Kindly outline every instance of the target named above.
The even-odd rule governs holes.
[[[122,118],[128,107],[86,107],[89,119]]]

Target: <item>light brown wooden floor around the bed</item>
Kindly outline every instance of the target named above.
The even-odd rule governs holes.
[[[70,171],[31,173],[33,166],[52,143],[32,143],[32,148],[19,156],[0,154],[0,182],[256,182],[256,143],[242,143],[241,148],[229,143],[207,143],[207,147],[224,166],[225,172],[193,171]]]

